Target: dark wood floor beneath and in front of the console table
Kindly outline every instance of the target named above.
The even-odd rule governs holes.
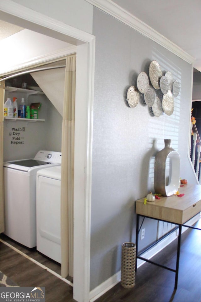
[[[201,228],[201,221],[195,224]],[[177,239],[152,258],[175,269]],[[122,288],[118,283],[96,302],[201,302],[201,231],[187,229],[182,234],[177,291],[175,273],[145,263],[136,272],[135,286]]]

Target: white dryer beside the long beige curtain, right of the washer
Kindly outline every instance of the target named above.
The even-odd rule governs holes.
[[[36,249],[61,263],[61,166],[36,174]]]

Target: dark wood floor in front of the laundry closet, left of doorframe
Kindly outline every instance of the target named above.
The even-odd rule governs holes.
[[[45,287],[47,302],[75,302],[73,288],[0,242],[0,271],[19,286]]]

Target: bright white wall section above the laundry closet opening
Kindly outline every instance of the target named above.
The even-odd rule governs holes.
[[[0,41],[1,65],[0,73],[22,69],[23,66],[38,64],[43,58],[55,57],[55,53],[72,47],[72,44],[52,37],[24,29]]]

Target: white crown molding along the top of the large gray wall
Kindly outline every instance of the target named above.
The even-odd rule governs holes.
[[[168,40],[165,36],[155,31],[149,25],[145,24],[125,9],[121,8],[111,0],[85,0],[95,7],[101,9],[105,13],[111,15],[122,23],[128,25],[134,30],[141,33],[143,36],[151,39],[172,53],[176,54],[179,58],[183,59],[187,63],[193,64],[195,58],[186,53],[182,48]]]

